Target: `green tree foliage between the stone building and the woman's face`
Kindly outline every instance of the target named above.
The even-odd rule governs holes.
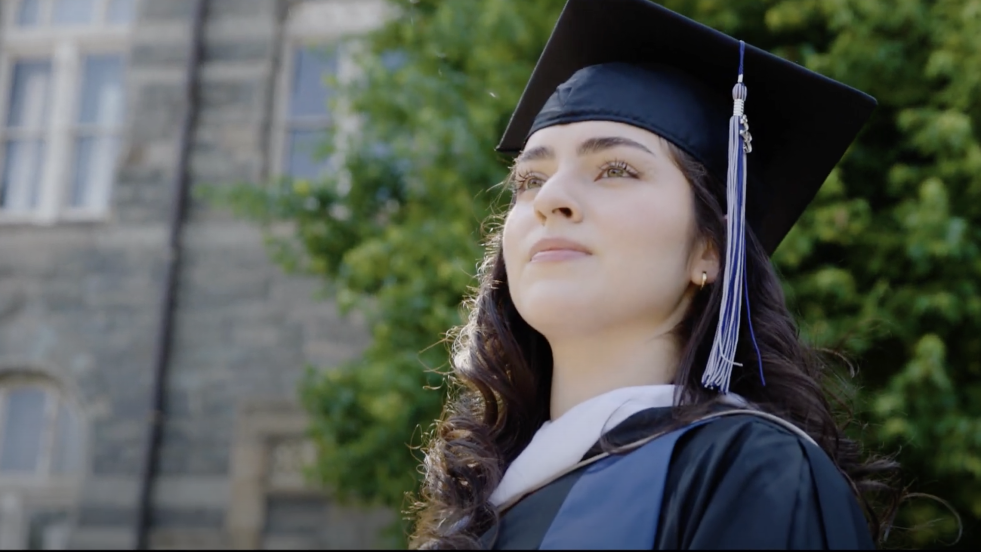
[[[420,444],[443,401],[439,342],[461,320],[481,224],[499,207],[493,185],[507,165],[493,148],[561,2],[391,4],[399,14],[353,54],[360,78],[333,83],[359,119],[341,140],[341,170],[211,193],[262,223],[292,223],[288,237],[268,234],[273,257],[323,277],[342,308],[365,313],[364,355],[309,370],[301,394],[316,477],[340,499],[398,508],[417,480],[407,445]],[[325,139],[324,155],[335,143]]]

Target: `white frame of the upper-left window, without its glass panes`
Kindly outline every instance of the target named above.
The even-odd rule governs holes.
[[[134,0],[138,10],[142,0]],[[129,91],[129,44],[134,25],[108,24],[104,21],[110,0],[96,1],[98,23],[86,25],[19,27],[17,13],[23,0],[0,3],[0,142],[6,143],[7,116],[13,84],[14,67],[22,60],[49,60],[48,120],[43,140],[45,152],[42,165],[46,167],[38,183],[37,205],[27,211],[8,211],[0,208],[0,224],[40,224],[57,222],[104,221],[112,216],[113,189],[116,174],[122,160],[123,148],[117,151],[114,178],[107,191],[107,200],[100,208],[72,207],[72,169],[77,151],[75,138],[81,101],[81,80],[84,77],[84,60],[90,55],[119,55],[123,60],[122,87],[124,97]],[[53,1],[43,6],[50,9]],[[138,13],[138,12],[137,12]],[[108,131],[112,136],[125,138],[129,126],[129,98],[124,100],[123,117],[117,127]],[[6,164],[5,147],[0,147],[0,171]]]

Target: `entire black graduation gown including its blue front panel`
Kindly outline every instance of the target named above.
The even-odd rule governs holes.
[[[607,433],[608,442],[634,443],[670,419],[668,408],[643,411]],[[600,453],[597,443],[584,460]],[[495,550],[874,548],[828,456],[750,414],[575,469],[504,511],[481,540]]]

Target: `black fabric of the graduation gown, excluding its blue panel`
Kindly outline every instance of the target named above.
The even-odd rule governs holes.
[[[670,414],[670,408],[634,414],[606,439],[615,446],[635,443],[664,431]],[[597,443],[584,461],[601,452]],[[716,418],[684,432],[667,454],[652,549],[874,549],[845,477],[819,447],[775,422],[751,414]],[[495,550],[539,549],[589,469],[574,469],[509,507],[482,543]],[[620,471],[618,477],[632,477],[630,469]],[[595,507],[591,500],[579,502],[587,511],[596,508],[596,516],[609,515],[602,500]]]

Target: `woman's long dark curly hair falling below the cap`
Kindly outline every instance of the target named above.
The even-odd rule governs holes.
[[[691,184],[698,231],[715,250],[724,251],[724,184],[691,155],[666,140],[664,144]],[[497,522],[490,494],[548,419],[551,350],[511,302],[499,231],[491,235],[487,250],[480,285],[466,302],[468,322],[451,334],[449,397],[429,437],[425,480],[410,509],[416,515],[413,548],[480,548],[478,538]],[[858,443],[846,436],[852,419],[844,400],[848,383],[828,369],[825,355],[801,343],[769,257],[749,229],[747,275],[766,385],[755,369],[735,370],[731,391],[806,431],[848,478],[879,539],[899,504],[901,492],[891,483],[899,466],[889,458],[866,459]],[[718,322],[721,288],[712,285],[697,294],[676,328],[684,344],[674,380],[680,386],[678,424],[706,414],[718,402],[718,393],[702,387],[700,378]],[[736,360],[747,366],[757,362],[746,346],[739,348]]]

